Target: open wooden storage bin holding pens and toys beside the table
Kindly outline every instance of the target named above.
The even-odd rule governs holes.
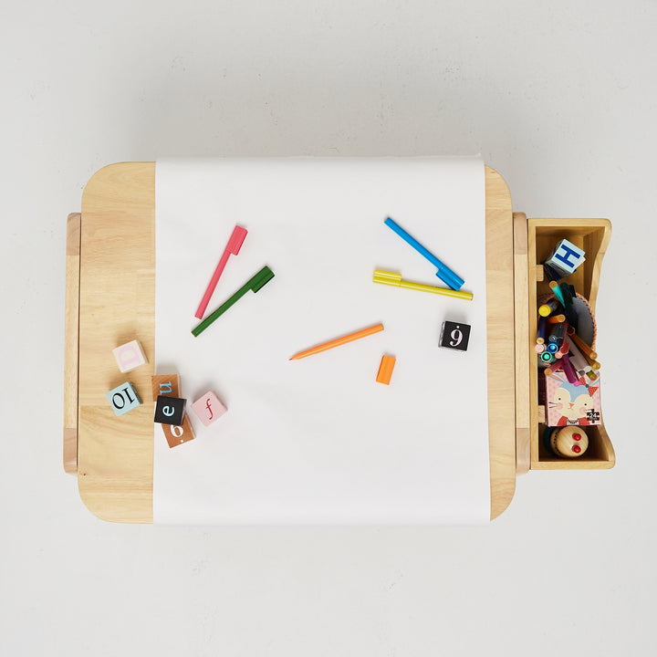
[[[613,467],[616,457],[610,438],[604,428],[604,390],[601,392],[601,421],[587,426],[589,449],[575,459],[559,458],[549,454],[543,445],[545,425],[541,423],[542,409],[538,405],[539,369],[534,352],[537,334],[537,297],[549,294],[548,280],[542,263],[561,239],[568,239],[586,252],[585,262],[565,280],[589,300],[595,313],[600,282],[600,266],[611,237],[608,219],[528,219],[527,220],[527,289],[528,289],[528,340],[529,340],[529,467],[532,470],[587,470]],[[598,327],[604,330],[604,327]],[[602,355],[604,358],[604,354]],[[604,370],[604,367],[602,368]],[[604,379],[604,373],[602,373]],[[522,385],[522,381],[519,381]],[[604,384],[603,384],[604,386]]]

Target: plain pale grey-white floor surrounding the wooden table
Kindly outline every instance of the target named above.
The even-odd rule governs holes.
[[[653,2],[3,3],[0,653],[649,655]],[[65,220],[102,165],[473,154],[532,216],[608,216],[609,472],[490,526],[112,526],[62,473]]]

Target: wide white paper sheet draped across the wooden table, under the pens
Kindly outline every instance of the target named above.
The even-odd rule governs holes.
[[[227,412],[172,450],[155,425],[153,520],[481,524],[490,520],[485,172],[475,158],[159,160],[155,367]],[[376,267],[444,287],[390,227],[433,245],[471,301],[374,285]],[[235,222],[248,230],[206,316],[265,264],[274,278],[194,338]],[[444,319],[474,327],[440,349]],[[381,323],[358,343],[298,351]],[[399,360],[390,386],[381,356]],[[493,411],[495,412],[495,410]]]

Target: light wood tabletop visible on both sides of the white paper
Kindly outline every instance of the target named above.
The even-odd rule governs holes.
[[[502,176],[485,167],[486,319],[491,519],[516,487],[514,226]],[[151,523],[153,403],[116,429],[105,393],[122,381],[112,349],[140,336],[148,365],[130,372],[150,390],[155,344],[155,164],[97,172],[68,217],[65,469],[96,516]],[[77,452],[77,454],[76,454]]]

